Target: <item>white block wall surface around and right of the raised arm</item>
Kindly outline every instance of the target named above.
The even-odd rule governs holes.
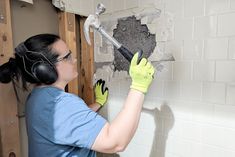
[[[235,1],[109,2],[113,7],[109,10],[111,21],[111,15],[133,8],[161,9],[159,19],[150,25],[151,32],[156,31],[157,35],[168,26],[161,24],[164,18],[168,21],[166,15],[171,15],[172,35],[156,40],[160,45],[158,50],[173,53],[176,59],[174,63],[164,63],[165,70],[155,75],[137,133],[119,155],[234,157]],[[148,24],[148,18],[141,22]],[[109,120],[120,111],[130,83],[123,73],[116,72],[110,79],[110,99],[106,106]]]

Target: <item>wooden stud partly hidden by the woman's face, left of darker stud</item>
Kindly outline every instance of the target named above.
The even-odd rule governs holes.
[[[59,12],[59,33],[62,40],[66,42],[72,55],[77,58],[75,15],[67,12]],[[76,67],[77,69],[77,67]],[[78,80],[74,79],[68,84],[68,91],[78,95]]]

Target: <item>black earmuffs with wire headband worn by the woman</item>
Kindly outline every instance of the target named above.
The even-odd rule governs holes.
[[[24,42],[19,44],[15,48],[15,51],[16,54],[19,55],[23,60],[25,72],[28,73],[32,78],[34,78],[38,83],[52,84],[57,80],[58,73],[56,71],[56,68],[45,55],[39,52],[29,51]],[[27,53],[38,55],[39,59],[37,59],[36,61],[30,59],[29,57],[27,57]],[[25,60],[30,61],[31,63],[34,62],[29,70],[27,70]]]

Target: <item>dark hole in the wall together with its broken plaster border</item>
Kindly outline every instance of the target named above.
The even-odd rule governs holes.
[[[169,63],[164,57],[171,56],[164,51],[165,42],[173,39],[173,15],[156,8],[129,10],[101,16],[101,25],[108,34],[132,52],[143,50],[144,57],[152,61],[157,71],[162,71]],[[95,36],[94,82],[102,78],[107,82],[111,79],[127,79],[129,63],[119,54],[116,48],[97,32]],[[116,78],[118,77],[118,78]]]

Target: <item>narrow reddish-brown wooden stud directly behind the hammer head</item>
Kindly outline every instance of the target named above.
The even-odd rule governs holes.
[[[93,75],[94,75],[94,34],[90,33],[91,46],[87,44],[83,26],[86,18],[80,18],[81,34],[81,79],[82,98],[87,104],[94,103]]]

